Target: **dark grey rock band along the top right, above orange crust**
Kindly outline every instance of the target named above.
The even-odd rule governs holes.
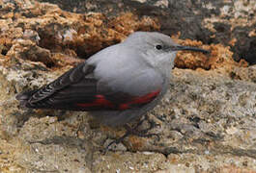
[[[235,60],[255,63],[256,1],[187,0],[41,0],[70,12],[101,12],[107,15],[134,12],[158,18],[161,32],[182,38],[231,46]]]

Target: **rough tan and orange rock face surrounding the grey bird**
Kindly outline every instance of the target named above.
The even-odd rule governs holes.
[[[255,48],[254,1],[54,2],[64,10],[0,1],[0,172],[256,171],[256,66],[233,60],[243,43],[248,53]],[[170,89],[149,113],[158,124],[150,133],[159,140],[129,136],[103,154],[124,129],[99,126],[86,112],[18,107],[17,92],[49,83],[137,30],[181,30],[173,36],[177,42],[212,51],[178,53]],[[145,120],[140,128],[148,126]]]

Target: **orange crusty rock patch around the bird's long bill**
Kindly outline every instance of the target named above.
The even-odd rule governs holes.
[[[178,39],[177,42],[182,45],[200,47],[211,51],[210,54],[190,51],[178,52],[175,60],[175,66],[179,68],[203,68],[209,70],[220,67],[229,68],[232,66],[248,66],[248,63],[244,60],[235,62],[232,58],[233,53],[230,51],[230,47],[228,46],[223,46],[221,44],[203,45],[201,41],[189,39]]]

